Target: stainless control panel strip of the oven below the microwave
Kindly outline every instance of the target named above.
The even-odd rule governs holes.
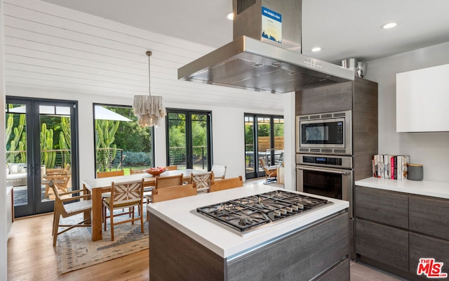
[[[306,164],[312,166],[330,166],[335,168],[352,169],[352,157],[297,154],[296,164]]]

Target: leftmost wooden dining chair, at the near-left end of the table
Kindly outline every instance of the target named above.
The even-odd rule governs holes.
[[[68,216],[74,216],[76,214],[81,214],[86,211],[89,211],[92,214],[92,200],[91,195],[88,194],[88,190],[82,189],[82,190],[73,190],[69,192],[63,192],[59,193],[58,188],[55,186],[53,181],[50,181],[48,183],[50,188],[55,193],[55,209],[53,212],[53,247],[56,246],[56,240],[58,240],[58,235],[65,233],[68,230],[71,230],[72,228],[76,227],[88,227],[91,226],[91,224],[86,223],[86,221],[89,221],[91,218],[86,218],[83,221],[80,221],[78,223],[74,223],[72,225],[66,225],[66,224],[60,224],[60,217],[67,218]],[[71,196],[68,198],[62,198],[64,195],[73,195],[74,193],[82,193],[83,195],[78,196]],[[76,200],[80,200],[77,201]],[[69,202],[64,204],[65,202]],[[64,230],[59,231],[60,227],[65,227]]]

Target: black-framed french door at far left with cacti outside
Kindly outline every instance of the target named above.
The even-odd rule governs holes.
[[[53,211],[53,181],[77,190],[76,102],[6,97],[6,183],[15,217]]]

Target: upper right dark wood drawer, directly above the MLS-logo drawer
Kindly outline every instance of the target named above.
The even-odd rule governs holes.
[[[409,229],[449,240],[449,200],[409,198]]]

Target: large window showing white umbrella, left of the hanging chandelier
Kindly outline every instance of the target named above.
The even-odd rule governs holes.
[[[94,105],[95,172],[154,166],[154,128],[138,125],[133,108]]]

